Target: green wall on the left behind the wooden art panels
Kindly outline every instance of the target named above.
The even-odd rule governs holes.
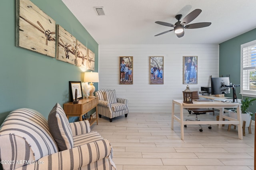
[[[98,43],[61,0],[31,0],[95,53],[98,72]],[[84,71],[73,64],[58,61],[15,46],[15,0],[3,0],[0,6],[0,124],[10,111],[32,108],[46,118],[58,102],[69,102],[68,81],[82,81]],[[94,86],[98,90],[98,83]]]

